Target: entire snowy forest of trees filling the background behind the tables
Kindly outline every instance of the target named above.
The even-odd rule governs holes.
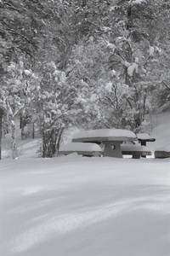
[[[64,132],[152,130],[170,109],[169,0],[0,0],[0,152],[16,124],[53,157]]]

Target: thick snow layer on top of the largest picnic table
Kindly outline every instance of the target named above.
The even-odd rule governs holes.
[[[128,137],[135,139],[136,135],[133,133],[133,131],[127,131],[122,129],[99,129],[80,131],[77,134],[73,135],[73,139],[85,137]]]

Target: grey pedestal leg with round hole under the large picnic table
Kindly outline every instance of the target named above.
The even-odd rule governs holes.
[[[121,143],[122,142],[104,142],[104,156],[122,158]]]

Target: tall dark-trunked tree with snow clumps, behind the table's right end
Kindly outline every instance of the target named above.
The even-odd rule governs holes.
[[[124,125],[133,131],[141,129],[146,114],[156,108],[151,106],[151,95],[159,88],[161,73],[164,73],[160,65],[162,55],[158,55],[162,45],[160,48],[157,45],[161,44],[162,21],[167,19],[169,11],[161,8],[162,2],[115,1],[107,17],[108,20],[112,17],[112,23],[108,23],[105,44],[110,51],[107,53],[110,55],[110,68],[117,74],[116,81],[110,81],[111,90],[115,92],[115,88],[116,91],[117,88],[119,91],[124,88],[120,101],[122,105],[119,106],[123,112],[116,116],[117,124],[122,124],[120,120],[123,119]],[[113,97],[105,96],[103,102],[107,98],[110,99],[107,105],[116,103],[115,93]],[[117,112],[114,105],[111,104],[111,119]],[[127,122],[124,122],[123,116]]]

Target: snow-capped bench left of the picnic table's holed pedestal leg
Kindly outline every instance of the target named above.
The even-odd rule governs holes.
[[[95,143],[67,143],[59,148],[59,155],[75,152],[82,156],[101,156],[103,154],[102,149]]]

